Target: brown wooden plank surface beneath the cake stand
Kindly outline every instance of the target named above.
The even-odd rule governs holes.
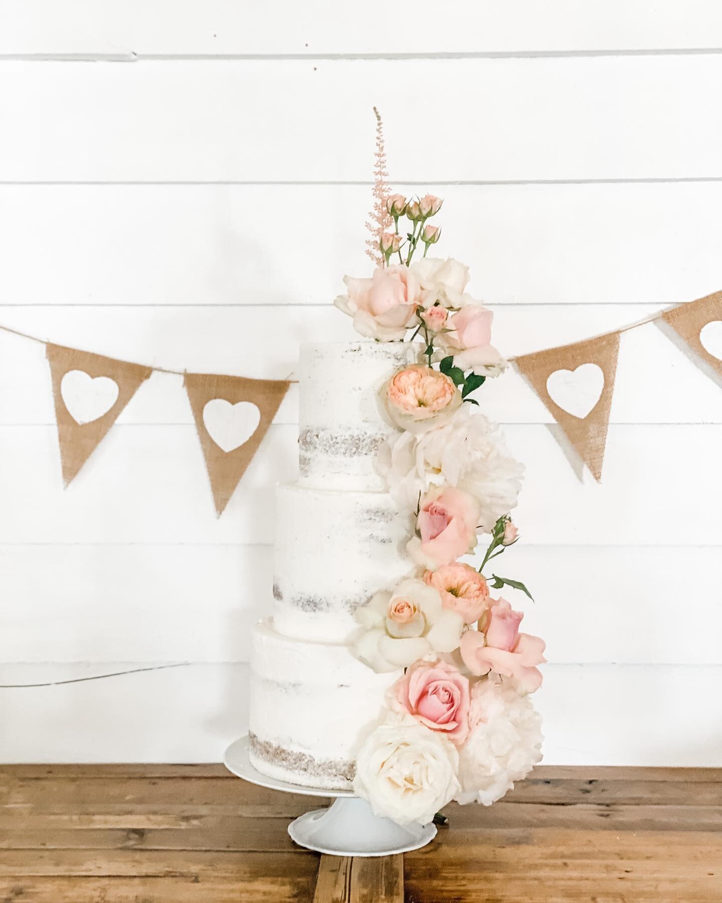
[[[0,767],[0,903],[722,901],[722,769],[537,768],[385,860],[294,846],[315,805],[215,765]]]

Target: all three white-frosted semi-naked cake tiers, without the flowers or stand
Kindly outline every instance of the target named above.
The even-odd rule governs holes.
[[[269,777],[350,787],[361,744],[403,672],[352,652],[354,613],[409,573],[412,533],[375,470],[393,427],[378,390],[416,343],[301,346],[300,476],[276,489],[273,611],[254,628],[250,756]]]

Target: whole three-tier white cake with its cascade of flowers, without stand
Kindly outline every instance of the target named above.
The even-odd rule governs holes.
[[[530,593],[484,574],[518,538],[523,468],[473,397],[506,362],[467,266],[426,256],[440,206],[385,200],[379,265],[336,300],[366,340],[301,347],[300,475],[276,489],[273,611],[252,641],[254,767],[353,787],[400,824],[489,805],[541,759],[544,644],[491,590]]]

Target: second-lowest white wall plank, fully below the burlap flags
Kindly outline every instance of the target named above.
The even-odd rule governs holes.
[[[520,544],[496,567],[532,590],[536,604],[504,595],[554,663],[722,665],[715,546]],[[17,602],[0,661],[246,661],[272,575],[270,546],[0,546],[3,596]],[[685,598],[705,630],[680,630]]]

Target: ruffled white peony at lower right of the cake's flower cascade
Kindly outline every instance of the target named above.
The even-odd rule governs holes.
[[[542,718],[513,681],[489,677],[471,691],[476,726],[459,749],[458,803],[491,805],[542,759]]]

